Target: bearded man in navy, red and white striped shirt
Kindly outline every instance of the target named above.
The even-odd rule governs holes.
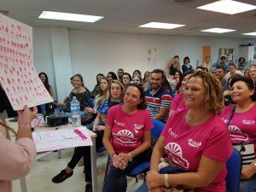
[[[163,70],[154,69],[149,81],[151,88],[146,90],[145,98],[150,117],[166,123],[172,104],[172,96],[162,86],[164,81]]]

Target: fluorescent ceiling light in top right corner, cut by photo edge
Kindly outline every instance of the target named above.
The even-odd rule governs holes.
[[[233,0],[220,0],[218,2],[203,5],[196,9],[205,9],[219,13],[234,15],[256,9],[256,6],[247,3],[236,2]]]

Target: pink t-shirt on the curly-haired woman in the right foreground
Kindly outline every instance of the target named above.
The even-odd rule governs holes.
[[[229,132],[217,114],[201,125],[189,126],[185,115],[189,109],[174,112],[166,122],[161,135],[165,137],[165,152],[179,168],[196,172],[201,155],[212,160],[226,162],[232,154]],[[226,167],[224,166],[207,187],[195,192],[225,192]]]

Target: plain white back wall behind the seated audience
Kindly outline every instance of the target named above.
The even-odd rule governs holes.
[[[54,75],[60,72],[54,70],[55,55],[52,55],[51,50],[53,37],[49,28],[37,27],[33,29],[33,36],[35,66],[38,73],[44,71],[48,74],[49,83],[55,88],[57,84]],[[202,46],[210,45],[212,61],[217,61],[218,48],[236,49],[236,55],[239,56],[240,44],[255,44],[255,40],[234,38],[177,37],[71,29],[68,30],[67,40],[72,74],[81,73],[84,84],[90,90],[96,84],[96,73],[106,75],[109,71],[116,73],[118,68],[123,68],[128,73],[140,69],[144,73],[154,68],[165,68],[166,62],[174,55],[179,55],[181,61],[188,55],[190,63],[195,67],[197,61],[201,63]],[[150,61],[148,61],[148,49],[151,49]],[[67,84],[67,87],[71,89],[70,84]],[[61,100],[64,95],[59,94],[58,98]]]

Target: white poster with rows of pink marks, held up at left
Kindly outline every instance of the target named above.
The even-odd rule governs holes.
[[[2,14],[0,82],[15,110],[53,102],[33,64],[32,27]]]

